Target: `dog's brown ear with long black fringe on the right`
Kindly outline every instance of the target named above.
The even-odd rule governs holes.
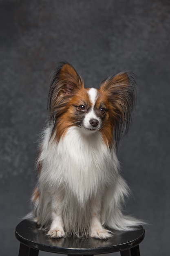
[[[134,74],[122,72],[109,76],[100,86],[110,102],[110,118],[112,120],[114,144],[117,149],[121,137],[127,134],[132,122],[136,105],[136,82]]]

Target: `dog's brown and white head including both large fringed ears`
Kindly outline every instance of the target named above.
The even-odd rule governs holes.
[[[53,72],[49,91],[49,118],[52,134],[62,137],[68,128],[80,132],[102,132],[111,146],[128,131],[135,103],[135,80],[129,72],[110,76],[100,88],[84,88],[84,81],[69,63]]]

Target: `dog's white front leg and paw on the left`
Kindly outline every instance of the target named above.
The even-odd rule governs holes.
[[[53,194],[51,208],[52,208],[52,223],[50,230],[48,232],[48,236],[51,238],[61,238],[65,236],[64,232],[64,224],[62,219],[62,195],[59,193]]]

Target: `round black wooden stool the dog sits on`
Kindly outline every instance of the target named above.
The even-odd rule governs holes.
[[[38,256],[39,251],[68,255],[94,255],[120,252],[121,256],[140,256],[139,243],[144,239],[142,226],[133,231],[113,231],[113,238],[60,238],[46,236],[36,223],[23,220],[15,229],[15,236],[20,241],[19,256]]]

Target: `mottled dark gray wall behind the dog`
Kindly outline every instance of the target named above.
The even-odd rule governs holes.
[[[137,75],[134,122],[119,147],[127,209],[150,224],[141,255],[168,255],[169,0],[1,0],[0,26],[0,255],[18,254],[14,229],[29,211],[49,75],[62,59],[86,87],[123,70]]]

